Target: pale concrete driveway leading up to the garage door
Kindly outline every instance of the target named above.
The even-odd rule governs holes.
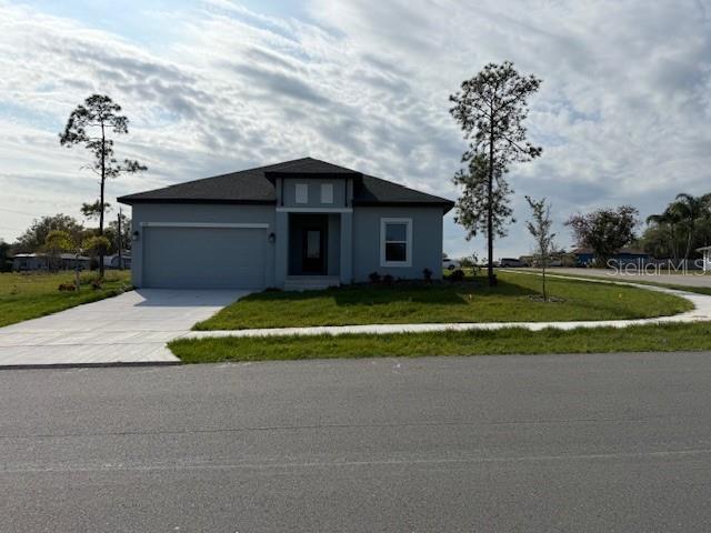
[[[249,293],[141,289],[0,328],[0,368],[177,362],[168,341]]]

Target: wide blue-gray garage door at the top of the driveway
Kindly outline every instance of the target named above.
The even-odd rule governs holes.
[[[143,286],[262,289],[266,250],[261,228],[148,227]]]

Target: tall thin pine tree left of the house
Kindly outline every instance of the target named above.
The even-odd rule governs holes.
[[[100,178],[99,200],[94,213],[99,217],[99,237],[103,235],[106,181],[122,173],[134,173],[148,168],[138,161],[124,159],[119,163],[113,155],[113,139],[109,134],[128,133],[129,119],[122,114],[121,105],[104,94],[92,94],[83,104],[77,105],[67,121],[64,131],[59,135],[61,145],[81,144],[93,155],[89,168]],[[87,208],[92,208],[89,204]],[[99,254],[99,272],[103,276],[103,249]]]

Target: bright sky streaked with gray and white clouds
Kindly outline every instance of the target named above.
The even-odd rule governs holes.
[[[543,155],[510,169],[517,222],[495,258],[532,249],[527,194],[570,247],[572,213],[643,219],[711,191],[711,0],[0,0],[0,238],[97,198],[88,154],[58,138],[94,92],[130,119],[117,157],[149,167],[108,183],[114,208],[307,155],[457,199],[448,98],[504,60],[543,80],[525,124]],[[484,257],[453,214],[444,251]]]

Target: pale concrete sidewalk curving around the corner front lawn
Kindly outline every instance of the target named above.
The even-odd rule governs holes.
[[[531,271],[511,271],[518,274],[540,275]],[[364,324],[364,325],[329,325],[316,328],[271,328],[254,330],[217,330],[217,331],[190,331],[181,339],[209,339],[222,336],[279,336],[279,335],[343,335],[357,333],[388,334],[388,333],[422,333],[428,331],[469,331],[469,330],[500,330],[503,328],[524,328],[530,331],[540,331],[545,328],[559,330],[573,330],[575,328],[627,328],[630,325],[689,323],[711,321],[711,295],[693,292],[678,291],[663,286],[647,285],[613,280],[593,280],[590,278],[574,278],[570,275],[548,274],[547,278],[560,278],[564,280],[579,280],[589,283],[612,283],[615,285],[634,286],[648,291],[663,292],[689,300],[693,303],[692,311],[671,316],[634,320],[597,320],[597,321],[570,321],[570,322],[475,322],[475,323],[429,323],[429,324]]]

